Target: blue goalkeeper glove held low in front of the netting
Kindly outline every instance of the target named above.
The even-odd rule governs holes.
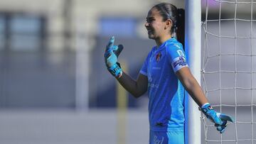
[[[217,127],[217,130],[220,131],[220,133],[224,133],[225,128],[228,126],[228,121],[234,123],[235,120],[231,116],[225,115],[223,113],[216,113],[216,111],[213,109],[210,104],[206,103],[201,107],[201,111],[206,115],[210,121],[215,123],[215,127]]]

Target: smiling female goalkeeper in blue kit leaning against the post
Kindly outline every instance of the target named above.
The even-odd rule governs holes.
[[[184,143],[184,89],[223,133],[227,121],[233,122],[233,118],[212,109],[188,68],[182,45],[183,9],[168,3],[156,4],[147,14],[145,27],[156,46],[146,57],[137,80],[122,72],[117,62],[122,45],[114,45],[114,37],[107,45],[105,63],[110,73],[133,96],[139,97],[148,91],[149,143]]]

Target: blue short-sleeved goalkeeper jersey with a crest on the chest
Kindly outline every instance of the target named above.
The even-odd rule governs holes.
[[[151,131],[183,131],[184,88],[175,72],[188,67],[183,46],[176,38],[152,48],[141,74],[148,77]]]

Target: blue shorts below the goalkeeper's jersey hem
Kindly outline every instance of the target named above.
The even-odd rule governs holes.
[[[149,144],[184,144],[183,131],[150,131]]]

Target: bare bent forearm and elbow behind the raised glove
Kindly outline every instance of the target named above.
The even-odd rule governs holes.
[[[134,97],[142,96],[147,90],[148,79],[143,74],[139,73],[137,80],[134,80],[128,74],[122,72],[122,76],[117,80]]]

